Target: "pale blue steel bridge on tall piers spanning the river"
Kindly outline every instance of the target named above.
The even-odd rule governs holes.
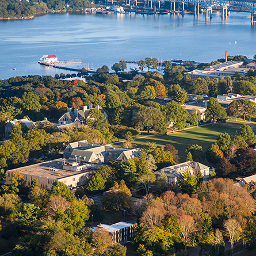
[[[113,0],[112,0],[113,1]],[[129,0],[129,5],[130,5]],[[133,0],[135,6],[137,6],[137,0]],[[251,23],[254,24],[256,21],[254,21],[254,15],[256,14],[256,0],[140,0],[144,1],[145,5],[147,2],[148,7],[151,5],[152,9],[152,3],[154,3],[154,11],[156,11],[156,3],[159,5],[159,9],[161,6],[161,2],[169,2],[170,3],[170,10],[173,12],[179,13],[179,6],[182,5],[182,14],[184,14],[184,4],[185,3],[191,3],[194,5],[194,14],[199,14],[199,10],[205,9],[205,18],[211,18],[212,17],[212,10],[222,10],[222,17],[228,16],[228,11],[237,11],[237,12],[250,12],[251,13]],[[178,7],[177,7],[178,5]],[[235,7],[235,9],[234,9]],[[209,16],[208,16],[209,12]]]

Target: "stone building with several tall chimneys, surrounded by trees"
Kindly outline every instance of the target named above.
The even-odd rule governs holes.
[[[72,111],[71,108],[68,108],[67,113],[64,113],[60,117],[59,124],[83,124],[83,121],[89,117],[91,109],[94,109],[92,104],[89,105],[89,108],[87,106],[83,106],[82,110],[74,109],[74,111]],[[106,114],[105,110],[102,109],[101,106],[95,105],[95,109],[100,110],[108,120],[108,114]]]

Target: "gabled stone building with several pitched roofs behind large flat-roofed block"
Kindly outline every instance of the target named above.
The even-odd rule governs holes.
[[[73,142],[68,144],[63,154],[64,158],[76,161],[86,161],[93,163],[95,161],[100,163],[108,163],[114,160],[127,161],[133,157],[140,155],[142,151],[140,148],[127,149],[113,147],[111,144],[97,145],[88,143],[87,140],[80,142]]]

